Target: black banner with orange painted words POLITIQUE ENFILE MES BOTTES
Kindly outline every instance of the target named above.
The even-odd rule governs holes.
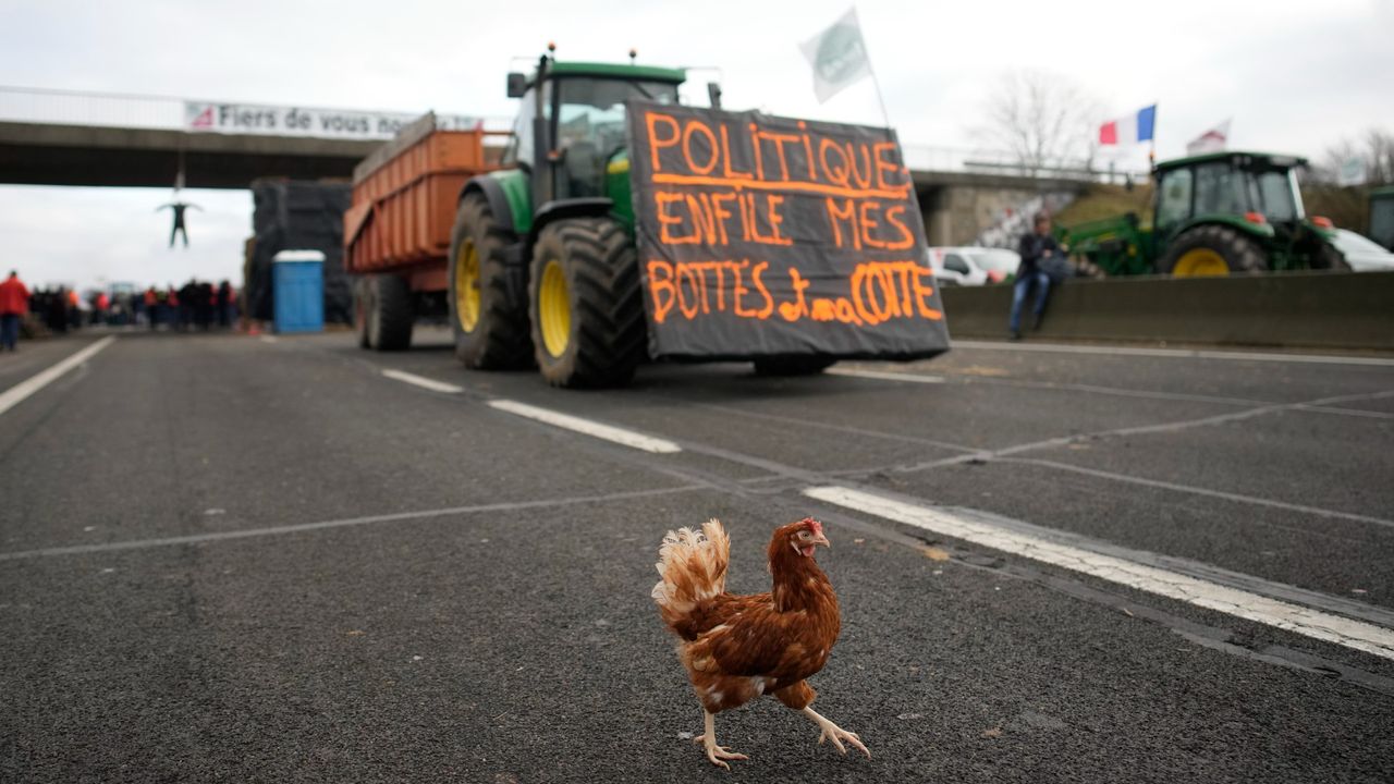
[[[629,138],[652,356],[948,349],[894,131],[633,102]]]

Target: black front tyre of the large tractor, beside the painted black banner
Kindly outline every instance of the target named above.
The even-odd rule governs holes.
[[[544,335],[539,297],[546,266],[566,283],[569,331],[553,354]],[[558,220],[542,229],[528,273],[528,317],[542,378],[553,386],[620,386],[645,354],[638,262],[625,227],[609,218]]]

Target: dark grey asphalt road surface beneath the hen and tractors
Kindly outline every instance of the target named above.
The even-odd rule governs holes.
[[[963,345],[581,393],[438,332],[117,333],[3,405],[93,340],[0,354],[3,781],[1394,778],[1388,360]],[[657,547],[718,516],[729,587],[767,590],[804,515],[843,614],[815,707],[874,756],[764,700],[718,716],[751,757],[726,773],[689,741]],[[1374,642],[1323,631],[1349,621]]]

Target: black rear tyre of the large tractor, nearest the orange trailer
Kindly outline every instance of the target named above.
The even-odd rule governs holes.
[[[500,229],[480,194],[460,199],[450,229],[450,255],[446,275],[450,279],[446,300],[450,308],[450,331],[454,333],[454,356],[466,367],[477,370],[506,370],[527,367],[533,360],[527,331],[527,303],[523,292],[509,286],[506,250],[517,237]],[[474,324],[466,328],[461,319],[456,287],[460,282],[457,266],[466,244],[473,244],[480,287]]]

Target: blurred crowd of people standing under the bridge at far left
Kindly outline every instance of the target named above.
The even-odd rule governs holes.
[[[130,285],[95,289],[85,296],[67,286],[29,290],[11,271],[0,282],[0,349],[14,350],[21,328],[28,335],[66,333],[89,325],[169,331],[227,329],[237,324],[240,307],[231,283],[190,280],[183,286]]]

